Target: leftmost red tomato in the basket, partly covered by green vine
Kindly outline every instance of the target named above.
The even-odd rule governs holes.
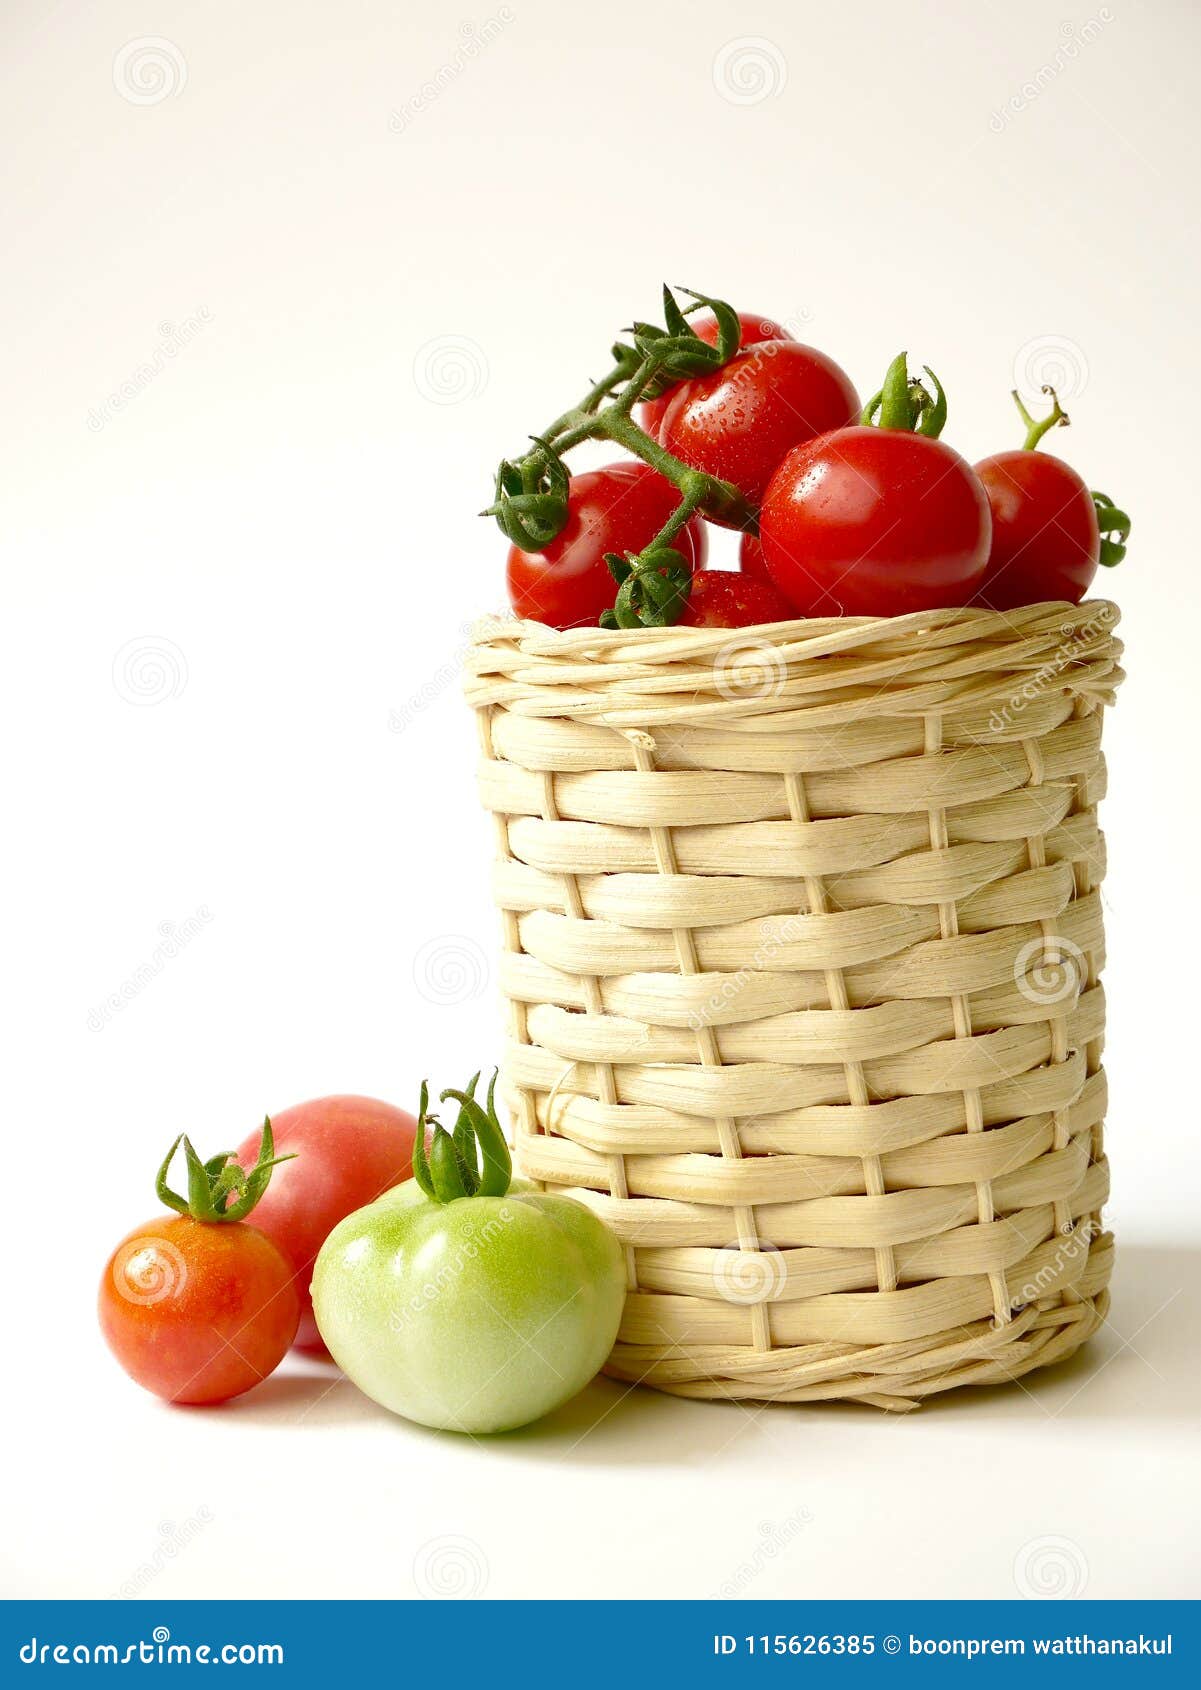
[[[546,551],[508,548],[508,602],[527,622],[552,629],[593,627],[617,598],[605,553],[642,551],[679,505],[679,493],[639,460],[571,477],[568,526]],[[676,539],[693,570],[708,551],[704,522],[693,517]]]

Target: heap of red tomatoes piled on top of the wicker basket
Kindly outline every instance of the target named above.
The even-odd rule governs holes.
[[[929,370],[931,387],[909,377],[902,355],[865,409],[833,358],[767,318],[738,321],[742,345],[726,363],[639,409],[655,446],[731,483],[758,514],[757,532],[742,532],[738,571],[704,568],[699,514],[674,536],[693,571],[682,625],[1078,603],[1098,563],[1122,554],[1115,542],[1105,546],[1117,556],[1103,554],[1098,502],[1105,512],[1108,500],[1035,450],[1066,421],[1054,394],[1041,424],[1020,407],[1025,446],[973,466],[937,438],[946,401]],[[716,345],[711,314],[691,326]],[[644,551],[677,505],[677,487],[639,458],[573,477],[559,536],[542,551],[510,548],[514,610],[557,629],[595,625],[617,593],[606,556]],[[1125,541],[1128,519],[1115,527]]]

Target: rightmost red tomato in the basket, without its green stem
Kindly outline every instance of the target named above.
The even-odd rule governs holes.
[[[976,465],[993,541],[980,602],[1012,610],[1049,598],[1078,605],[1101,558],[1093,495],[1062,458],[998,451]]]

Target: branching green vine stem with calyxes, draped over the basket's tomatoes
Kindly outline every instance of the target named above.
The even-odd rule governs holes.
[[[742,343],[738,313],[725,299],[679,287],[691,304],[681,308],[671,287],[664,287],[664,321],[630,326],[630,341],[611,348],[613,367],[593,382],[584,397],[564,411],[520,458],[505,458],[497,470],[493,502],[481,515],[495,517],[502,534],[522,551],[542,551],[562,532],[569,510],[569,483],[564,455],[586,439],[608,439],[649,463],[679,488],[681,504],[659,534],[637,556],[618,559],[630,564],[637,578],[622,608],[615,607],[601,620],[603,627],[664,627],[677,620],[686,595],[660,592],[644,583],[660,578],[662,553],[694,512],[720,517],[730,527],[755,531],[757,510],[736,487],[713,475],[689,468],[633,421],[633,407],[694,375],[711,375],[735,357]],[[709,309],[718,324],[716,345],[701,340],[687,321],[694,311]],[[659,559],[659,561],[654,561]],[[611,566],[610,566],[611,568]],[[622,585],[625,580],[618,576]]]

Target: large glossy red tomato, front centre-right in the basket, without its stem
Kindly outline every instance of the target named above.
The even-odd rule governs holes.
[[[971,602],[992,517],[975,470],[944,441],[848,428],[789,453],[758,532],[799,615],[899,617]]]

